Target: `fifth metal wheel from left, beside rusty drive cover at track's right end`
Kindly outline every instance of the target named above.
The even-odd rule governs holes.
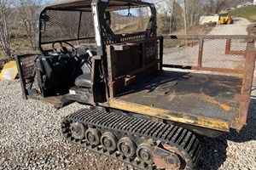
[[[148,165],[152,165],[154,162],[153,151],[154,148],[150,144],[140,144],[137,147],[137,158],[140,161],[147,163]]]

